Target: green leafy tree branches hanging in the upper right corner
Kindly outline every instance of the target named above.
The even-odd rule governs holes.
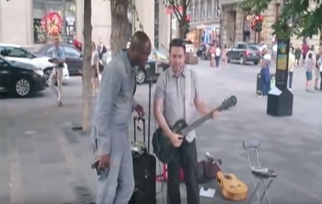
[[[272,25],[277,36],[285,38],[291,34],[297,37],[312,38],[322,32],[322,1],[313,0],[315,8],[310,8],[310,0],[245,0],[243,8],[248,8],[254,14],[267,9],[272,2],[282,2],[279,19]],[[288,27],[286,29],[286,27]]]

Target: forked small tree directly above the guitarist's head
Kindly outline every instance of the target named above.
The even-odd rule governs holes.
[[[166,0],[163,4],[173,10],[179,22],[179,38],[185,38],[189,29],[189,20],[187,20],[187,9],[191,0]]]

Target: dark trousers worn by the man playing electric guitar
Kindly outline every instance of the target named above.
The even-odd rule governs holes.
[[[185,173],[188,204],[199,204],[199,186],[197,181],[196,140],[189,143],[186,139],[177,148],[173,161],[168,164],[168,204],[180,204],[180,167]]]

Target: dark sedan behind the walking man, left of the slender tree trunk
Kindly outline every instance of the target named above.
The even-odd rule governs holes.
[[[83,66],[83,54],[76,49],[73,44],[60,43],[60,45],[65,53],[65,63],[68,66],[69,73],[71,75],[78,75]],[[43,45],[37,55],[51,57],[53,55],[51,48],[52,44]]]

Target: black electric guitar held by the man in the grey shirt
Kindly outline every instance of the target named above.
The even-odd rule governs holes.
[[[185,137],[189,132],[194,130],[196,127],[200,126],[205,121],[212,118],[212,114],[214,111],[223,111],[228,110],[229,108],[235,106],[237,104],[237,98],[236,96],[230,96],[229,98],[225,99],[221,106],[214,109],[210,113],[206,114],[205,116],[199,118],[192,124],[188,125],[187,122],[183,119],[180,119],[175,122],[173,126],[170,127],[172,132],[177,133]],[[184,139],[184,138],[182,138]],[[172,160],[173,154],[177,147],[173,146],[169,137],[166,135],[166,133],[159,127],[155,130],[152,137],[152,146],[153,146],[153,152],[164,164],[169,164]]]

